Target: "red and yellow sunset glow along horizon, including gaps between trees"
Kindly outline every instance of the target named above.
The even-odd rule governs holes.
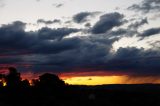
[[[1,73],[6,72],[1,70]],[[22,80],[28,79],[32,84],[32,79],[38,79],[44,73],[33,73],[32,71],[21,73]],[[53,73],[54,74],[54,73]],[[102,84],[160,84],[160,76],[132,76],[130,73],[117,73],[106,71],[84,71],[57,73],[60,79],[71,85],[102,85]],[[1,81],[2,82],[2,81]],[[3,86],[6,86],[3,83]]]

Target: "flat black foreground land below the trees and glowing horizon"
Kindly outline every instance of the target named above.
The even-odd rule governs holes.
[[[0,106],[160,106],[160,85],[67,86],[0,90]]]

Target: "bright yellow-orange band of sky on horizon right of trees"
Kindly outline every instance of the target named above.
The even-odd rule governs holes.
[[[103,85],[103,84],[159,84],[159,77],[131,77],[131,76],[78,76],[62,79],[71,85]]]

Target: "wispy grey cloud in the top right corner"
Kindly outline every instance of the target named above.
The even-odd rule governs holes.
[[[133,4],[129,10],[142,11],[143,13],[159,12],[160,0],[143,0],[140,4]]]

